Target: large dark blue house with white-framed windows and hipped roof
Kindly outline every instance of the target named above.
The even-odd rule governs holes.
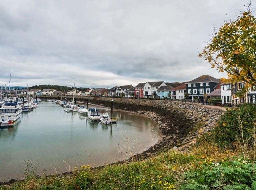
[[[215,79],[209,75],[203,75],[186,83],[187,93],[192,100],[201,99],[204,94],[208,95],[213,92],[219,82],[219,79]]]

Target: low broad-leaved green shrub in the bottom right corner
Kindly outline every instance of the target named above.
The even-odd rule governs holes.
[[[256,164],[235,159],[221,163],[204,163],[200,169],[185,172],[187,183],[181,190],[188,189],[253,189],[256,190]]]

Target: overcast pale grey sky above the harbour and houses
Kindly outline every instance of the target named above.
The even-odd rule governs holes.
[[[256,0],[251,0],[256,6]],[[205,42],[249,0],[1,0],[0,85],[85,88],[202,75]]]

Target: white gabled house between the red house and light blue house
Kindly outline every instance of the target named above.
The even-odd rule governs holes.
[[[143,96],[147,98],[157,98],[157,89],[159,89],[161,86],[166,86],[165,82],[146,82],[144,85]]]

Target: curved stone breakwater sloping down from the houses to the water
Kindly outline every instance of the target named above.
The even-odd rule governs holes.
[[[111,107],[111,99],[114,109],[144,115],[155,121],[164,134],[154,145],[154,149],[151,147],[143,155],[150,155],[154,150],[170,149],[195,139],[199,134],[211,130],[223,114],[222,110],[174,101],[103,97],[92,100],[91,103]],[[202,125],[198,127],[198,123]]]

